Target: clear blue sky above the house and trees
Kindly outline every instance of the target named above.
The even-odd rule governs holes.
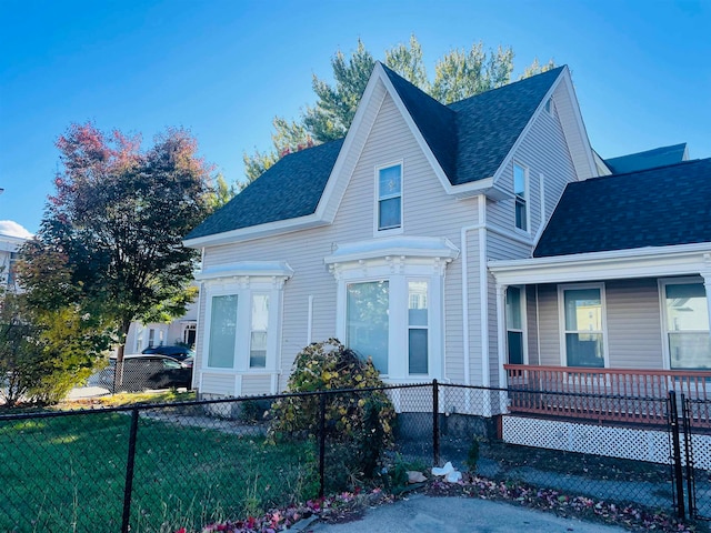
[[[0,221],[38,230],[72,122],[190,129],[229,181],[271,119],[313,103],[311,76],[357,40],[378,59],[414,33],[430,74],[451,48],[567,63],[603,158],[688,142],[711,157],[711,2],[0,0]],[[663,193],[663,191],[660,191]]]

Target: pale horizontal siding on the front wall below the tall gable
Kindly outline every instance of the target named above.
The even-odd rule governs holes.
[[[312,341],[318,342],[336,334],[337,282],[326,268],[323,259],[339,244],[373,239],[375,167],[393,161],[402,161],[403,164],[403,234],[444,237],[461,248],[460,228],[474,224],[478,219],[475,199],[457,201],[445,194],[400,112],[387,95],[331,225],[206,250],[206,270],[237,261],[287,261],[293,269],[294,274],[286,282],[283,291],[281,375],[278,390],[286,388],[294,356],[307,343],[310,295],[313,296]],[[343,178],[348,179],[339,177]],[[475,240],[475,232],[470,235],[470,240]],[[479,258],[470,259],[471,264],[478,268]],[[471,298],[478,299],[475,271],[470,272],[470,282]],[[447,268],[444,295],[445,378],[461,382],[463,366],[460,259]],[[204,323],[204,312],[203,303],[200,309],[201,324]],[[202,353],[203,334],[201,331],[198,338],[199,358]],[[202,362],[199,360],[197,364],[200,365]],[[212,392],[204,386],[203,391]],[[253,392],[259,391],[254,389]]]

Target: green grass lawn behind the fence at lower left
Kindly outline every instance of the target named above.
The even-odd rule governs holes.
[[[309,442],[181,424],[139,421],[132,533],[199,530],[318,491]],[[0,532],[120,531],[129,429],[124,413],[0,421]]]

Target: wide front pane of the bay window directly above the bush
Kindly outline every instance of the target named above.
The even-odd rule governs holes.
[[[349,283],[346,303],[346,344],[359,355],[371,358],[388,373],[390,284],[388,281]]]

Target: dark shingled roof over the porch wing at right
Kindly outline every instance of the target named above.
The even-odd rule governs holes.
[[[711,242],[711,159],[569,183],[534,258]]]

